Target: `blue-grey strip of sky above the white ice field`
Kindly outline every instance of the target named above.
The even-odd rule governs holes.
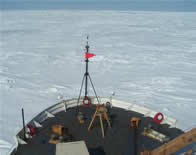
[[[0,9],[196,11],[194,0],[0,0]]]

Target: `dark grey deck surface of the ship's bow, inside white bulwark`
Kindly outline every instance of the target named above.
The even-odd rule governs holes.
[[[70,108],[67,112],[59,112],[55,117],[47,119],[42,123],[43,127],[39,128],[36,135],[28,140],[28,144],[19,145],[17,151],[12,155],[54,155],[55,145],[49,144],[51,138],[51,127],[56,124],[68,128],[73,136],[72,141],[84,140],[90,155],[131,155],[133,154],[133,129],[130,127],[130,119],[138,117],[141,124],[138,128],[137,152],[138,154],[144,149],[153,150],[163,143],[152,138],[143,136],[144,127],[149,124],[159,132],[165,134],[171,139],[182,134],[183,131],[177,128],[170,128],[167,124],[157,124],[150,117],[144,117],[140,113],[127,111],[125,109],[113,107],[108,116],[111,118],[112,128],[109,128],[106,121],[103,121],[105,138],[102,138],[99,119],[97,118],[88,131],[88,126],[96,110],[96,106],[90,108],[79,107],[79,110],[85,115],[85,123],[80,124],[76,117],[76,107]],[[21,138],[22,134],[20,134]],[[77,149],[77,148],[76,148]]]

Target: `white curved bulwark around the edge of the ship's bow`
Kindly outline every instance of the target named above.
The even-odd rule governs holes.
[[[91,98],[92,104],[98,103],[96,97],[90,97],[90,98]],[[143,114],[145,117],[152,117],[153,118],[155,116],[155,114],[157,113],[156,111],[154,111],[150,108],[147,108],[142,105],[138,105],[136,103],[129,103],[129,102],[125,102],[125,101],[121,101],[121,100],[117,100],[117,99],[106,98],[106,97],[99,97],[99,99],[101,100],[101,103],[110,102],[113,107],[118,107],[118,108],[122,108],[125,110],[135,111],[135,112]],[[80,99],[80,101],[79,101],[80,104],[82,104],[82,100],[83,100],[83,98]],[[44,121],[46,121],[47,119],[49,119],[51,117],[55,117],[55,115],[57,113],[62,112],[62,111],[66,112],[66,110],[68,108],[72,108],[72,107],[77,106],[77,102],[78,102],[77,98],[73,98],[70,100],[63,100],[63,101],[47,108],[46,110],[44,110],[40,114],[38,114],[28,124],[31,124],[31,125],[37,126],[37,127],[41,127],[42,123]],[[177,127],[177,120],[170,117],[170,116],[164,115],[164,120],[163,120],[162,124],[168,124],[168,125],[170,125],[170,127]],[[19,137],[17,137],[17,138],[19,138]]]

